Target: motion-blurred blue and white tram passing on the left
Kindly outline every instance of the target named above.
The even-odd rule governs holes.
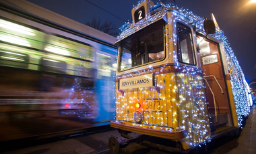
[[[109,125],[116,38],[28,1],[0,1],[0,141]]]

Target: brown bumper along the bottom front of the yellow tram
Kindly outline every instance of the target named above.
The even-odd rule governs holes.
[[[173,141],[179,141],[187,137],[187,131],[168,131],[164,129],[153,129],[153,128],[145,128],[145,127],[137,127],[133,125],[127,125],[121,121],[111,121],[110,126],[116,129],[121,129],[123,131],[130,131],[134,133],[140,133],[143,135],[149,135],[154,137],[161,137],[164,139],[171,139]]]

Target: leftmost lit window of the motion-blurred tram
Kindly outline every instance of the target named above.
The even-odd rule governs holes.
[[[38,70],[45,36],[36,27],[0,17],[0,66]]]

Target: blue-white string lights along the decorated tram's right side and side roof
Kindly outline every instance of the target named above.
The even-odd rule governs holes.
[[[173,5],[168,6],[174,7]],[[175,18],[175,20],[185,21],[186,23],[195,23],[195,21],[201,19],[201,17],[194,15],[192,12],[188,12],[185,9],[180,9],[177,6],[175,8],[178,9],[177,17]],[[196,27],[197,29],[201,29],[201,32],[204,33],[203,21],[197,22]],[[173,33],[173,35],[174,34],[176,34],[176,31]],[[243,117],[247,117],[250,112],[249,107],[251,102],[249,100],[249,95],[246,92],[246,85],[248,84],[245,80],[243,70],[241,69],[241,66],[238,63],[236,56],[234,56],[234,52],[232,51],[232,48],[230,47],[230,44],[228,43],[227,37],[224,35],[224,32],[221,30],[216,31],[216,33],[212,36],[216,37],[218,40],[221,40],[223,42],[224,52],[228,63],[228,70],[234,70],[232,72],[235,72],[230,72],[229,75],[231,78],[230,82],[232,84],[232,93],[234,96],[234,102],[236,106],[236,114],[238,116],[238,125],[241,126]]]

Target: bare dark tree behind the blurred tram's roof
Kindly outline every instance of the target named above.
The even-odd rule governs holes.
[[[98,17],[92,17],[91,20],[86,22],[85,24],[115,37],[119,34],[117,26],[113,21],[102,21],[102,19]]]

